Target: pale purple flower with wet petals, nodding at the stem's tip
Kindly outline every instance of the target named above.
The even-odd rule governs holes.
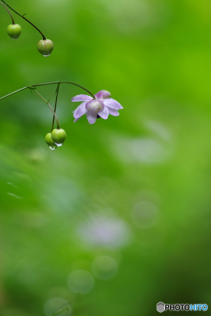
[[[95,123],[96,119],[108,119],[109,114],[118,116],[119,109],[123,109],[121,104],[111,98],[109,91],[101,90],[95,94],[96,99],[86,94],[78,94],[72,98],[72,102],[83,101],[73,111],[74,122],[78,121],[82,115],[86,113],[86,117],[90,124]]]

